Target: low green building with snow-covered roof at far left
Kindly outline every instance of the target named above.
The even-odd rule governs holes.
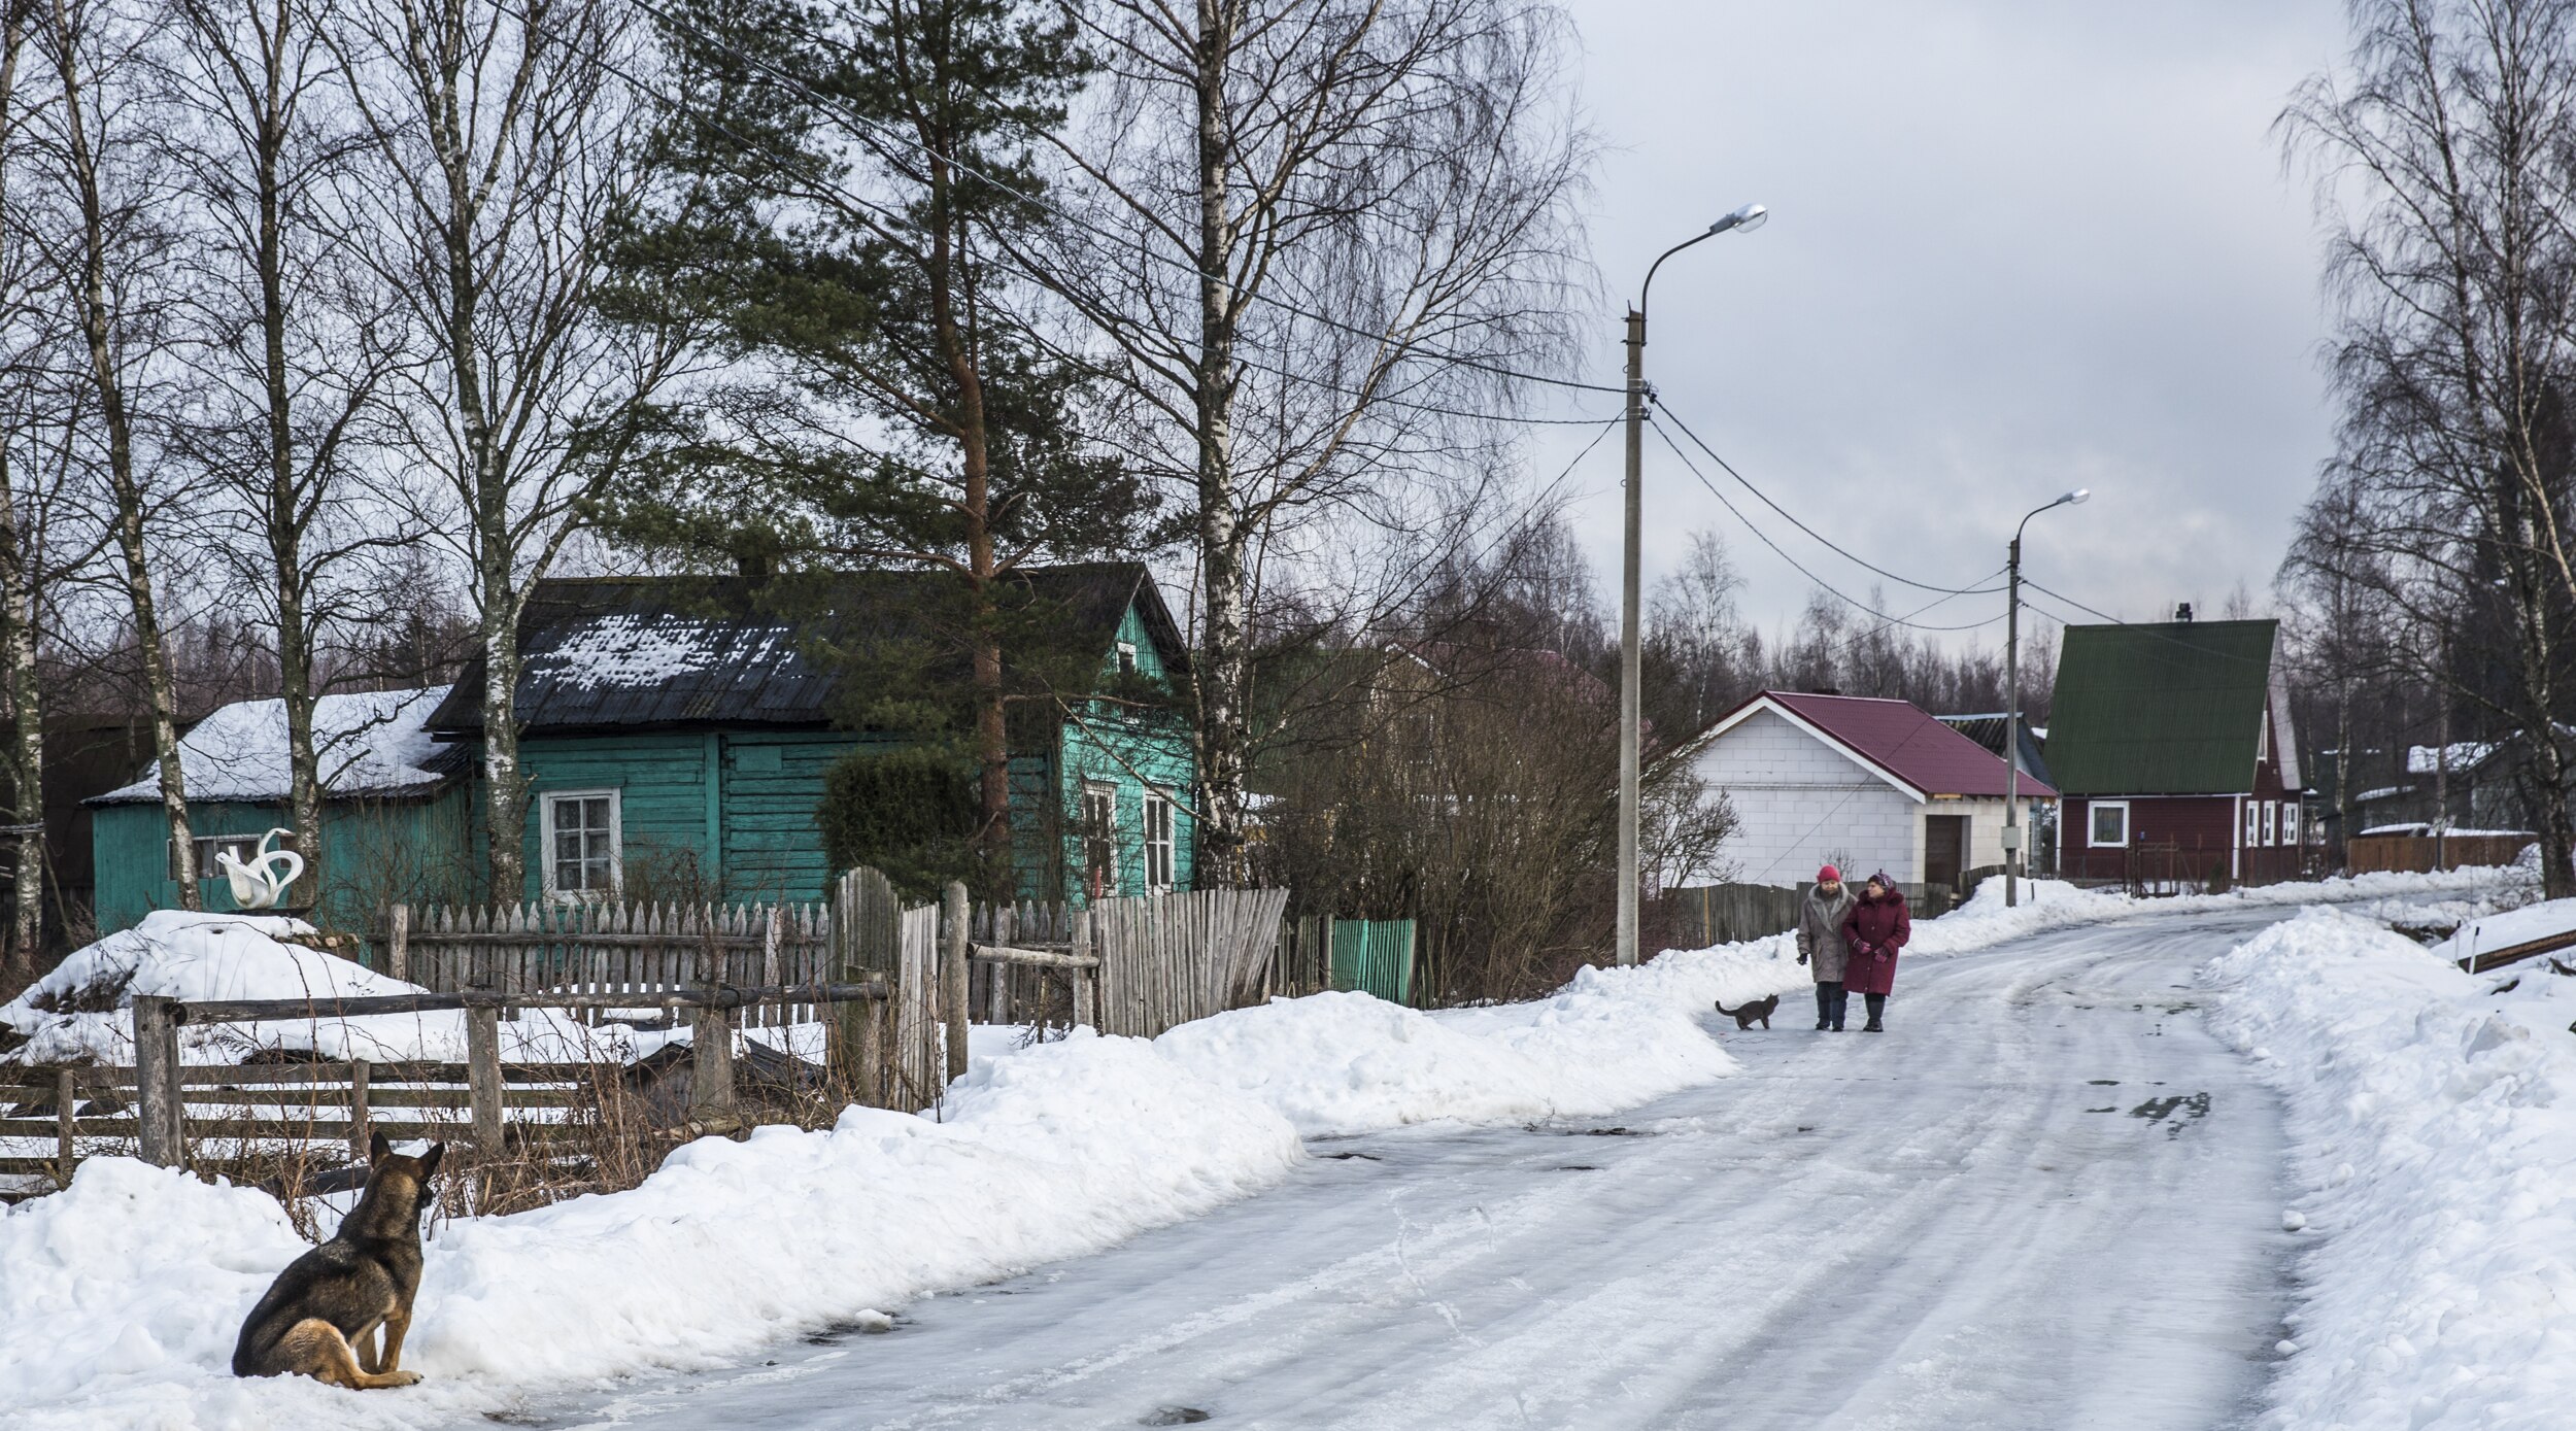
[[[289,903],[314,903],[314,919],[348,929],[389,901],[456,898],[471,880],[466,785],[456,770],[440,770],[448,762],[428,731],[430,710],[446,697],[448,687],[438,685],[314,703],[322,849],[304,852],[312,867],[289,891]],[[265,831],[289,824],[286,703],[240,700],[214,710],[180,739],[180,770],[206,909],[234,909],[214,857],[224,849],[247,857]],[[155,909],[178,909],[160,764],[88,806],[98,929],[126,929]]]

